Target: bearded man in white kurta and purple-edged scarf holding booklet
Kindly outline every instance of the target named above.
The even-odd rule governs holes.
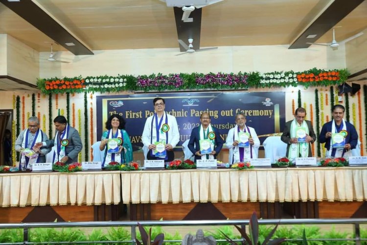
[[[229,164],[243,162],[244,159],[257,158],[257,152],[260,147],[260,140],[257,137],[255,129],[246,125],[246,116],[242,112],[236,114],[236,126],[229,129],[226,146],[229,148]],[[239,147],[239,133],[248,133],[249,146]]]

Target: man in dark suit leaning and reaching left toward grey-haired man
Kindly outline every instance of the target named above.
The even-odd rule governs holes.
[[[68,124],[64,116],[57,116],[53,123],[56,128],[56,135],[53,140],[36,143],[35,147],[55,146],[53,163],[63,162],[70,164],[78,161],[78,154],[82,150],[82,140],[78,131]]]

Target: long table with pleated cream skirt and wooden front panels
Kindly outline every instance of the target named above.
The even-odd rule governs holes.
[[[131,220],[280,218],[294,203],[298,218],[367,217],[367,167],[0,174],[0,222],[40,207],[65,221],[116,220],[122,203]]]

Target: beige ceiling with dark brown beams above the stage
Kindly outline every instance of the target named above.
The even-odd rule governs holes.
[[[184,24],[182,10],[174,11],[161,0],[0,0],[0,34],[9,34],[40,52],[49,51],[49,42],[56,42],[60,45],[54,45],[55,51],[69,50],[75,55],[106,49],[184,51],[177,39],[184,40],[190,28],[196,28],[192,34],[196,49],[307,48],[306,42],[331,42],[333,26],[342,26],[336,29],[339,42],[365,30],[367,1],[223,0],[195,9],[192,16],[194,22]],[[306,40],[306,34],[318,36]],[[77,43],[76,48],[64,44],[69,38]]]

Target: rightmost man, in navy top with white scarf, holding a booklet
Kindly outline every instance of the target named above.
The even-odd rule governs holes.
[[[333,121],[323,124],[320,133],[320,143],[325,143],[326,156],[346,157],[352,156],[351,149],[358,143],[358,134],[355,127],[345,122],[343,105],[337,104],[331,108]]]

